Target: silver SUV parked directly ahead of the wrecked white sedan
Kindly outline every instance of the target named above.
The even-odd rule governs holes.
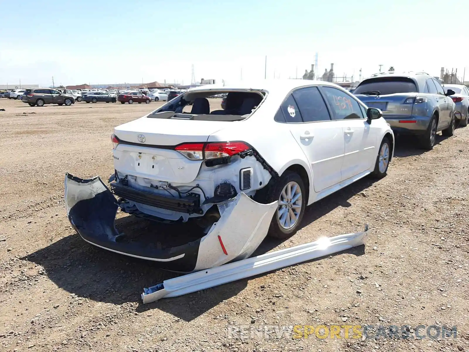
[[[424,72],[378,73],[363,80],[353,92],[368,107],[383,112],[396,135],[413,135],[425,149],[435,145],[436,134],[454,134],[454,94]]]

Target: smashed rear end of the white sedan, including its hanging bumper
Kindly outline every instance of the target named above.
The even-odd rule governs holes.
[[[224,109],[207,98],[227,93]],[[217,132],[239,130],[266,92],[196,90],[114,129],[114,174],[67,174],[68,217],[83,239],[101,248],[153,260],[161,268],[192,272],[249,257],[265,238],[277,202],[253,198],[275,170],[242,138],[219,140]],[[194,222],[201,236],[178,246],[125,241],[114,225],[118,209],[159,222]],[[165,236],[172,236],[168,233]]]

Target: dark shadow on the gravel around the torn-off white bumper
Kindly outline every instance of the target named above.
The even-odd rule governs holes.
[[[161,236],[161,233],[169,234],[171,242],[182,241],[182,237],[186,237],[187,242],[193,237],[200,237],[197,233],[200,230],[193,224],[167,225],[138,219],[135,216],[117,219],[116,227],[121,233],[144,234],[139,236],[139,241],[151,241],[152,237]],[[95,247],[84,242],[73,230],[70,230],[69,236],[21,259],[44,267],[49,279],[65,291],[79,297],[118,305],[126,302],[141,303],[140,293],[143,292],[144,287],[153,286],[180,275],[161,270],[148,260],[140,260]],[[181,319],[184,319],[184,316],[196,317],[222,300],[235,296],[245,286],[246,282],[235,282],[224,285],[212,291],[211,294],[195,292],[170,299],[163,306],[169,311],[170,306],[176,305],[174,315],[180,316]],[[162,309],[160,305],[140,305],[137,311],[146,311],[155,307]],[[182,307],[185,306],[191,307],[190,312],[184,312]],[[176,311],[179,313],[176,314]]]

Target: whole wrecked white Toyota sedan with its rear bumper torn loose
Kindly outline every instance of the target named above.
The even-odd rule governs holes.
[[[225,109],[219,99],[207,99],[216,94],[227,94]],[[249,255],[248,247],[257,247],[266,232],[291,236],[305,207],[315,201],[364,176],[385,176],[394,150],[393,131],[379,109],[367,108],[336,84],[296,79],[189,89],[149,115],[115,127],[112,141],[110,186],[118,206],[164,222],[197,222],[205,229],[197,248],[210,242],[205,250],[224,258],[216,265]],[[99,189],[84,195],[85,187],[98,181]],[[85,240],[157,261],[190,257],[183,245],[171,253],[148,253],[144,246],[109,245],[112,236],[102,235],[102,229],[90,233],[90,223],[82,223],[90,221],[95,207],[96,226],[106,206],[103,199],[96,204],[90,199],[101,191],[111,194],[98,177],[66,176],[69,218]],[[71,212],[80,197],[81,210]],[[108,199],[112,204],[114,198]],[[103,216],[109,222],[111,215]],[[239,248],[230,255],[230,246]],[[214,264],[195,267],[207,265]]]

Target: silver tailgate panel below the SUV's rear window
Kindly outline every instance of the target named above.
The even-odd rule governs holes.
[[[406,102],[408,98],[412,100],[417,93],[395,93],[386,95],[365,95],[356,94],[356,97],[363,101],[368,107],[376,107],[386,116],[410,116],[412,115],[412,102]]]

